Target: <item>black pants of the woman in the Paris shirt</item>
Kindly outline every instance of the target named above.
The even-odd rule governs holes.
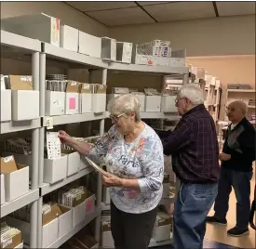
[[[152,238],[157,209],[128,214],[111,203],[111,231],[115,249],[146,249]]]

